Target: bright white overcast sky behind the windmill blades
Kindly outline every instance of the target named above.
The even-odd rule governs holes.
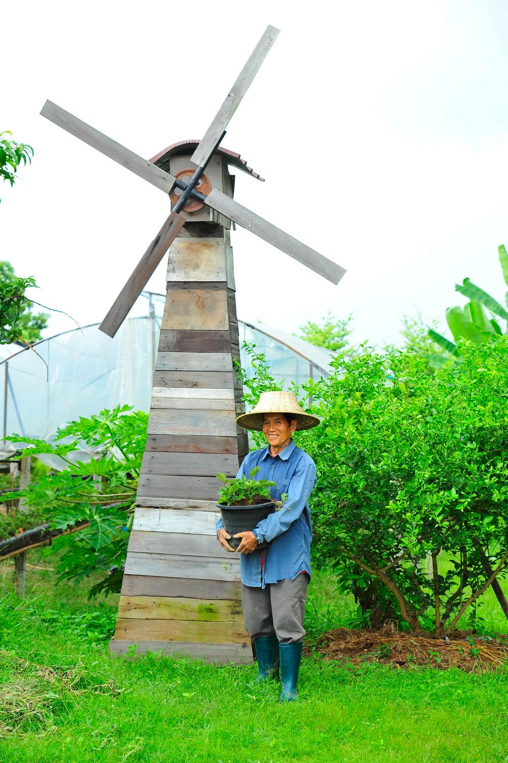
[[[503,300],[508,5],[503,0],[28,2],[2,36],[0,130],[35,149],[0,188],[0,259],[37,301],[102,320],[169,201],[39,116],[46,98],[141,156],[200,137],[267,24],[282,30],[224,145],[235,198],[348,269],[338,286],[233,233],[238,315],[293,331],[330,310],[396,341],[444,326],[468,276]],[[165,263],[148,288],[163,291]],[[72,328],[53,315],[47,335]]]

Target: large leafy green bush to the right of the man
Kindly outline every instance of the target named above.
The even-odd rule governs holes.
[[[508,556],[508,339],[461,355],[433,375],[414,353],[338,356],[305,388],[321,426],[295,436],[318,473],[315,563],[374,622],[439,636],[487,583],[482,553],[503,575]]]

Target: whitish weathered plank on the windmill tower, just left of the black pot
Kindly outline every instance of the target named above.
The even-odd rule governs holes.
[[[212,503],[212,501],[210,501]],[[150,530],[158,533],[186,533],[210,535],[215,539],[215,522],[219,511],[193,509],[163,509],[150,506],[136,507],[132,530]]]

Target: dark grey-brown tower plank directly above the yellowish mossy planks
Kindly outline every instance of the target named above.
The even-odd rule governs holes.
[[[163,578],[152,575],[124,575],[122,596],[170,596],[196,599],[241,600],[240,581]]]

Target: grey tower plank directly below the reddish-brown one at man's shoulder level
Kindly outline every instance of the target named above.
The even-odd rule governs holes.
[[[218,472],[235,477],[238,456],[222,453],[154,453],[145,452],[141,472],[145,475],[198,475],[215,477]],[[217,487],[220,483],[217,480]]]

